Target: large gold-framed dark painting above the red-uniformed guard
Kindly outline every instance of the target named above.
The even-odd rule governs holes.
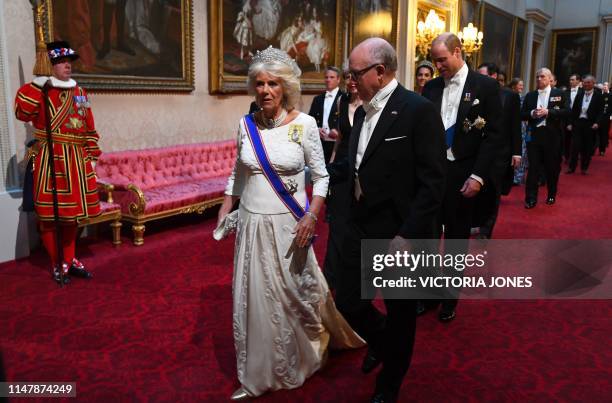
[[[44,0],[45,37],[80,55],[94,91],[192,91],[192,0]]]

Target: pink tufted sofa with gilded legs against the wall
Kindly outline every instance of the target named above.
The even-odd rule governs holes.
[[[142,245],[147,221],[220,204],[235,159],[234,140],[185,144],[104,153],[96,173],[114,186],[122,219],[132,223],[134,244]]]

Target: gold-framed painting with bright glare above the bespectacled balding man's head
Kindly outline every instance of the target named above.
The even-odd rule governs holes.
[[[398,0],[351,1],[349,49],[373,36],[384,38],[395,47],[397,2]]]

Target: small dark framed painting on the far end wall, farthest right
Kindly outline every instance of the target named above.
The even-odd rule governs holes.
[[[559,85],[568,85],[571,74],[594,74],[597,28],[553,31],[552,65]]]

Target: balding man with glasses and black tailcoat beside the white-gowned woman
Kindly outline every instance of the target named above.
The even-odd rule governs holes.
[[[361,298],[361,241],[393,239],[393,245],[433,238],[446,168],[440,115],[431,102],[398,84],[396,70],[395,50],[381,38],[366,39],[349,58],[349,79],[363,107],[355,113],[349,144],[352,201],[336,305],[368,342],[362,371],[383,364],[373,402],[397,400],[412,357],[416,304],[385,299],[385,317]]]

